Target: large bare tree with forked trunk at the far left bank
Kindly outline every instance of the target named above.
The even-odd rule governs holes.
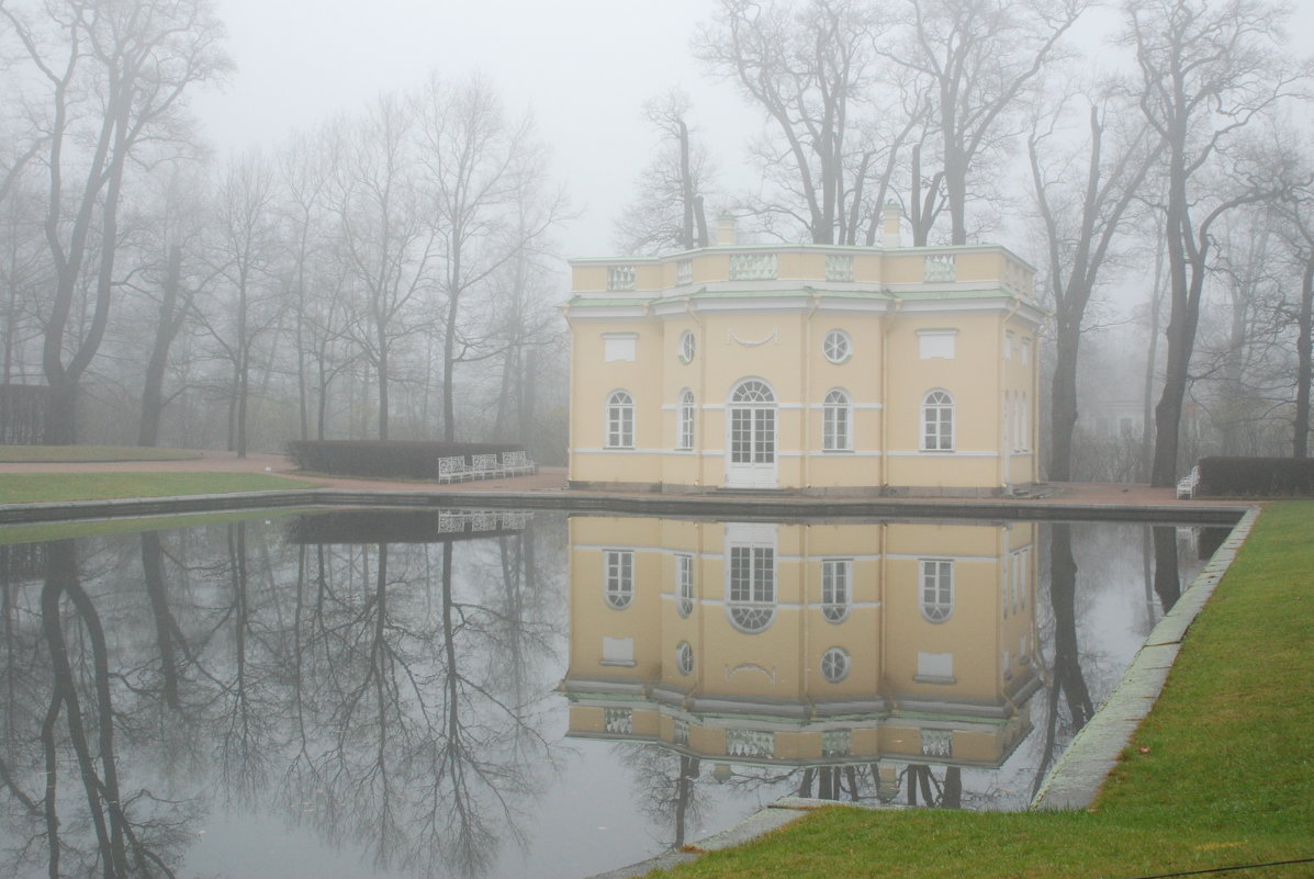
[[[129,164],[187,137],[184,92],[221,76],[229,60],[206,0],[0,3],[0,20],[46,89],[45,105],[32,106],[45,126],[45,238],[54,269],[42,353],[46,441],[72,443],[79,381],[109,319]],[[75,309],[79,297],[85,309]]]

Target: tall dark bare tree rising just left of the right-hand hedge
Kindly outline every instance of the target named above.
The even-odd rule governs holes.
[[[1163,394],[1155,406],[1150,482],[1177,478],[1183,401],[1209,276],[1213,225],[1229,210],[1286,188],[1271,155],[1247,154],[1243,135],[1290,95],[1301,72],[1285,64],[1286,11],[1256,0],[1144,0],[1126,8],[1123,41],[1137,55],[1135,97],[1160,138],[1162,206],[1171,311]]]

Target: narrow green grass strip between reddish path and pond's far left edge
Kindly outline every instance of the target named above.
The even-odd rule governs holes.
[[[57,503],[313,489],[314,482],[260,473],[5,473],[0,503]]]

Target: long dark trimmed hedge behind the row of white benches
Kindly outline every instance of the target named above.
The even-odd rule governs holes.
[[[335,476],[378,476],[436,480],[438,459],[523,452],[523,445],[498,443],[419,443],[382,440],[294,440],[288,457],[298,469]]]

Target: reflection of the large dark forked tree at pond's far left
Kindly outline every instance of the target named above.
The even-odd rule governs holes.
[[[47,544],[45,554],[35,607],[20,608],[21,585],[4,583],[5,640],[17,648],[7,650],[5,677],[21,681],[5,703],[7,817],[21,841],[9,867],[17,875],[45,861],[51,876],[170,876],[196,804],[121,780],[117,669],[101,611],[83,587],[74,544]],[[60,792],[64,779],[78,787]]]

